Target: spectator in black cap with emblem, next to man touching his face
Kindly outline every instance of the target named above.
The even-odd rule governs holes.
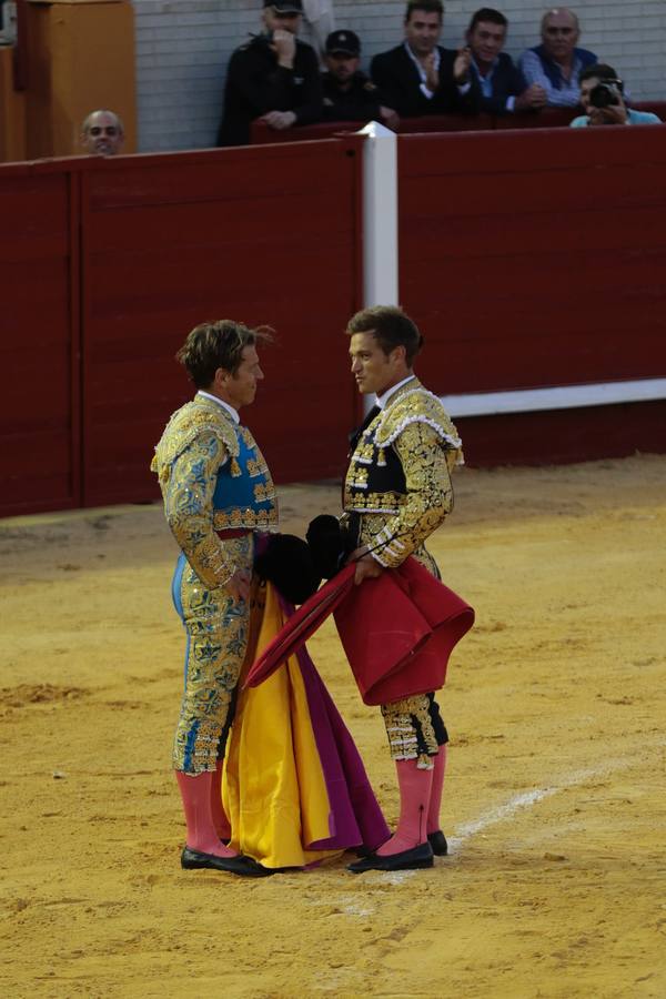
[[[327,121],[383,121],[396,128],[397,114],[383,108],[380,91],[359,69],[361,39],[353,31],[332,31],[324,54],[322,77],[324,119]]]

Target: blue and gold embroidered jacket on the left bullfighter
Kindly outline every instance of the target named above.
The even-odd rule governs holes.
[[[218,531],[270,531],[278,525],[275,486],[250,431],[214,400],[195,395],[172,415],[151,470],[160,478],[164,514],[204,585],[235,572]]]

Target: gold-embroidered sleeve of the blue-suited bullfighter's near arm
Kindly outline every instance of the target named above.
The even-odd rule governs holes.
[[[216,475],[229,457],[220,437],[203,433],[184,448],[163,485],[164,513],[173,536],[199,578],[214,589],[235,572],[213,531],[213,494]]]

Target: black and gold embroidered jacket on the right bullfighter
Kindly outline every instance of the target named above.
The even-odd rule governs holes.
[[[453,508],[451,472],[462,463],[437,396],[416,377],[406,382],[353,443],[344,509],[360,515],[359,543],[386,567],[413,554],[436,574],[423,545]]]

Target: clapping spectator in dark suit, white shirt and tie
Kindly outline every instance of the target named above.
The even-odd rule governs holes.
[[[466,49],[455,52],[437,44],[443,22],[440,0],[410,0],[404,42],[372,60],[370,74],[382,103],[401,117],[444,114],[471,107],[472,54]]]

